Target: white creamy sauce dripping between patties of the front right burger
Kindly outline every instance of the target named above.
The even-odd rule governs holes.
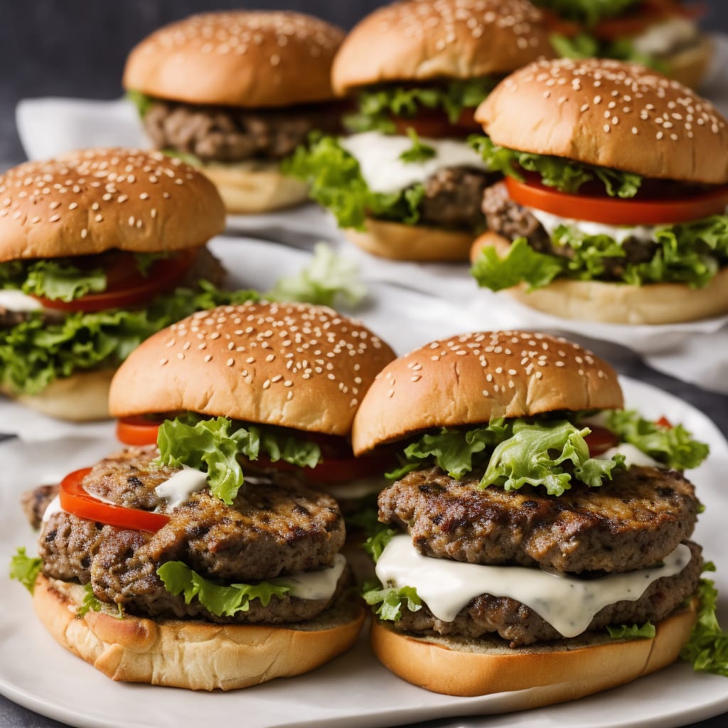
[[[617,601],[636,601],[652,582],[682,571],[690,550],[681,544],[664,566],[600,579],[574,579],[523,566],[480,566],[423,556],[407,535],[395,536],[376,564],[385,585],[414,587],[432,614],[452,622],[476,596],[504,596],[526,604],[564,637],[584,632],[594,615]]]

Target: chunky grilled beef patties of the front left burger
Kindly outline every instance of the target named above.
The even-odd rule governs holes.
[[[151,467],[156,455],[154,447],[130,448],[103,459],[84,478],[84,487],[125,507],[154,510],[163,505],[154,488],[178,470]],[[295,622],[313,617],[329,602],[274,598],[264,608],[253,601],[248,612],[218,619],[197,601],[186,605],[183,597],[168,593],[157,568],[183,561],[206,579],[254,582],[331,566],[343,543],[344,521],[331,496],[282,475],[276,482],[245,483],[232,506],[210,491],[197,491],[152,534],[55,513],[43,524],[39,555],[47,576],[91,582],[101,601],[137,614]]]

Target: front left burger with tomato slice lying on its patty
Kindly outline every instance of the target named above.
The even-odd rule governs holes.
[[[363,604],[317,483],[347,466],[360,397],[393,356],[304,304],[221,306],[145,341],[109,402],[152,418],[157,444],[71,473],[54,505],[54,488],[26,499],[39,560],[15,573],[52,636],[116,680],[207,690],[351,646]]]

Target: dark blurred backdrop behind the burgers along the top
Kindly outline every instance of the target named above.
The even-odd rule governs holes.
[[[351,28],[384,0],[4,0],[0,23],[0,170],[25,159],[15,130],[21,98],[117,98],[130,48],[160,25],[205,10],[294,9]],[[728,32],[728,2],[702,4],[702,25]]]

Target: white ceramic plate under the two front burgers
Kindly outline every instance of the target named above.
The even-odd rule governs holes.
[[[728,492],[721,485],[728,470],[728,446],[712,422],[675,397],[636,381],[625,381],[628,403],[646,416],[662,414],[684,422],[711,444],[711,458],[692,472],[706,511],[696,540],[705,557],[719,566],[716,582],[728,596],[728,558],[724,514]],[[17,496],[24,488],[49,481],[92,462],[114,448],[108,439],[49,440],[42,446],[22,440],[0,445],[0,563],[17,546],[34,553],[34,537],[23,521]],[[244,724],[245,728],[339,726],[376,727],[437,718],[482,716],[478,725],[535,728],[669,728],[728,711],[728,680],[694,673],[678,663],[633,684],[566,705],[535,711],[509,711],[513,696],[475,698],[435,695],[413,687],[384,670],[368,652],[365,639],[348,654],[298,678],[277,680],[232,693],[203,694],[180,689],[109,681],[58,646],[35,620],[23,587],[0,576],[0,692],[53,719],[77,726],[199,728]],[[728,620],[728,604],[721,601]],[[466,721],[472,725],[472,720]]]

